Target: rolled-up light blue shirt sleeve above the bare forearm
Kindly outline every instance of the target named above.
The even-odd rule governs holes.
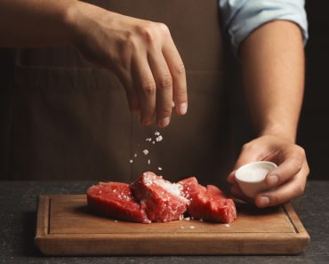
[[[301,28],[304,44],[309,38],[304,0],[219,0],[224,27],[237,52],[254,29],[271,20],[290,20]]]

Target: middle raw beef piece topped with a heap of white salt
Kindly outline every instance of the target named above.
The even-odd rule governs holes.
[[[153,172],[144,172],[132,182],[132,194],[140,201],[148,219],[156,222],[178,220],[186,211],[188,199],[181,196],[181,186]]]

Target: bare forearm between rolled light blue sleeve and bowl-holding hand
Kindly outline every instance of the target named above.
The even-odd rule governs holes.
[[[259,135],[294,142],[304,86],[301,30],[277,20],[256,29],[240,48],[245,92]]]

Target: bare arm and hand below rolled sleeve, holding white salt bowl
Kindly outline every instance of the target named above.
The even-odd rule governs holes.
[[[303,192],[309,174],[304,150],[295,145],[304,86],[300,28],[277,20],[256,29],[241,45],[245,93],[259,138],[245,144],[236,168],[256,160],[279,164],[267,176],[272,190],[257,196],[260,207],[282,204]],[[233,173],[229,181],[234,183]],[[242,196],[235,185],[232,192]]]

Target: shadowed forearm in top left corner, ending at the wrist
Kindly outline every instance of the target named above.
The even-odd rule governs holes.
[[[0,46],[67,44],[68,12],[76,0],[0,1]]]

